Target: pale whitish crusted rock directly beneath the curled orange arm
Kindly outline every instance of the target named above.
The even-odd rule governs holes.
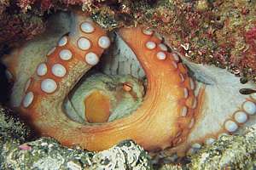
[[[3,149],[5,152],[6,150]],[[41,138],[20,144],[4,156],[3,167],[11,169],[150,169],[147,153],[132,141],[109,150],[89,152],[61,146],[55,139]]]

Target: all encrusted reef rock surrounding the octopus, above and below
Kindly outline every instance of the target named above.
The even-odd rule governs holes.
[[[187,59],[226,68],[241,76],[241,82],[256,80],[255,1],[2,0],[0,54],[42,33],[51,14],[74,5],[108,30],[147,23]],[[4,81],[2,75],[1,87],[6,86]],[[223,136],[175,164],[153,165],[148,153],[130,140],[97,153],[79,147],[70,149],[55,139],[32,137],[29,127],[13,115],[1,106],[0,169],[255,168],[256,127],[248,128],[243,135]]]

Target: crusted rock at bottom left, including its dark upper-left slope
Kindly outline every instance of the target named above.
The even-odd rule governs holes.
[[[30,130],[0,106],[0,169],[150,169],[149,156],[131,140],[102,152],[61,146],[55,139],[28,141]],[[26,142],[26,143],[25,143]]]

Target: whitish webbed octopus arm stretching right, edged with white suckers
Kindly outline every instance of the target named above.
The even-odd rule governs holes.
[[[240,93],[242,88],[255,88],[253,82],[241,84],[240,77],[235,77],[224,69],[197,65],[187,60],[184,62],[194,71],[195,77],[200,77],[195,94],[198,94],[201,102],[197,104],[200,111],[196,112],[195,126],[187,140],[172,150],[166,150],[177,152],[180,156],[193,154],[202,145],[212,144],[224,134],[241,133],[244,127],[255,123],[256,114],[255,93]],[[199,97],[201,87],[204,87],[205,92]]]

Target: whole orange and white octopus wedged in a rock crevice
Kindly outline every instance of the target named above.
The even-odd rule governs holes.
[[[146,26],[107,32],[78,11],[55,14],[44,35],[3,57],[9,105],[61,144],[98,151],[132,139],[161,156],[193,154],[255,123],[253,82],[189,62],[164,37]]]

